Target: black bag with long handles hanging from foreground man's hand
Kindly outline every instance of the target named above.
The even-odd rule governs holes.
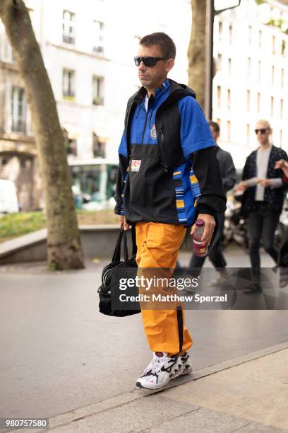
[[[107,314],[108,316],[124,317],[140,313],[138,301],[120,301],[121,297],[126,299],[126,296],[138,296],[138,287],[136,285],[130,287],[130,284],[129,287],[123,289],[120,284],[124,279],[134,279],[137,275],[135,226],[131,229],[131,236],[133,250],[131,258],[128,258],[127,231],[124,230],[122,225],[116,241],[112,262],[106,265],[102,271],[102,284],[98,289],[100,297],[99,310],[100,313]],[[122,243],[124,245],[123,261],[121,261]]]

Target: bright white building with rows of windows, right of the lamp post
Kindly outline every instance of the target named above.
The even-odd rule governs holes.
[[[242,0],[215,18],[213,118],[237,168],[257,146],[258,119],[270,122],[273,144],[288,151],[288,35],[265,24],[282,20],[288,27],[284,3]]]

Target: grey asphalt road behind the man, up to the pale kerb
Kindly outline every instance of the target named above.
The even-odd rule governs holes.
[[[229,265],[248,265],[242,250]],[[188,254],[181,254],[183,265]],[[208,263],[209,265],[209,263]],[[263,265],[272,262],[264,257]],[[131,391],[150,361],[140,315],[97,311],[103,263],[0,267],[1,417],[51,417]],[[288,341],[287,311],[187,311],[194,369]]]

